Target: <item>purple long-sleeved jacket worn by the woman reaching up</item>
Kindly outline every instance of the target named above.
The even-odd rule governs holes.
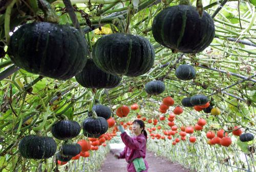
[[[130,137],[126,132],[121,133],[121,138],[125,144],[124,150],[120,153],[118,159],[125,158],[127,165],[127,171],[136,172],[133,165],[133,160],[135,158],[143,158],[146,170],[141,172],[147,172],[148,164],[145,160],[146,157],[146,137],[141,133],[139,136]]]

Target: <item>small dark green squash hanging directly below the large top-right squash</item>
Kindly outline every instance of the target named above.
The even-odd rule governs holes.
[[[191,65],[180,65],[175,70],[175,75],[180,80],[191,80],[196,78],[196,70]]]

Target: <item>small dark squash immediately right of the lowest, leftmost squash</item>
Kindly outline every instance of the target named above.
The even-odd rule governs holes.
[[[61,146],[61,149],[60,149],[60,152],[61,152],[61,155],[63,156],[71,156],[71,157],[74,157],[76,156],[77,154],[80,154],[82,148],[79,144],[63,144]]]

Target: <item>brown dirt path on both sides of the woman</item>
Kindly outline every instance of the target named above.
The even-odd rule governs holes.
[[[121,150],[113,149],[113,151],[120,152]],[[162,157],[156,157],[152,152],[149,151],[147,151],[146,154],[146,161],[150,166],[148,172],[189,172],[189,170],[185,169],[182,165],[172,163]],[[108,156],[106,156],[106,159],[98,172],[126,172],[126,165],[127,163],[124,159],[115,159],[110,153]]]

